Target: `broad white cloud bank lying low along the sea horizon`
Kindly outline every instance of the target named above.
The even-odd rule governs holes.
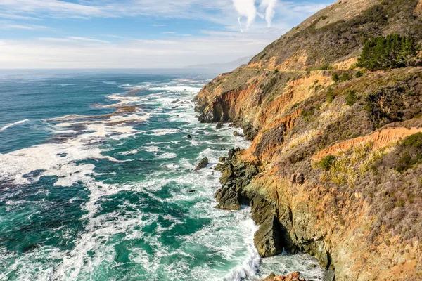
[[[261,51],[274,39],[274,34],[257,33],[252,37],[207,34],[172,40],[132,39],[118,44],[70,38],[0,40],[0,65],[2,68],[169,68],[226,63]]]

